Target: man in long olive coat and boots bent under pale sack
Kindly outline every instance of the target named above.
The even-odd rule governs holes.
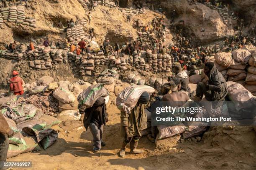
[[[131,114],[121,111],[121,135],[124,137],[119,155],[121,158],[125,156],[125,148],[130,143],[131,153],[143,153],[142,149],[137,149],[138,141],[141,138],[141,131],[147,128],[147,115],[144,109],[154,102],[156,92],[150,95],[143,92],[136,106],[131,110]]]

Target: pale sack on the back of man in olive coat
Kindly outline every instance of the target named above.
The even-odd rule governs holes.
[[[155,89],[148,85],[134,85],[126,87],[116,97],[116,106],[119,110],[130,114],[143,92],[148,92],[151,95],[153,92],[155,92]]]

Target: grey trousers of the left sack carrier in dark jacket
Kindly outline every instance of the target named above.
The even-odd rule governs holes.
[[[90,123],[89,125],[93,137],[93,150],[101,149],[103,126],[103,124],[95,125],[95,123]]]

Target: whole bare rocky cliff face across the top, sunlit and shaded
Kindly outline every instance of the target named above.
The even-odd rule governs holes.
[[[120,0],[120,6],[127,6],[127,1]],[[129,1],[130,5],[132,2],[141,4],[151,2],[149,0]],[[174,23],[179,25],[180,21],[184,21],[187,33],[194,35],[195,40],[201,43],[208,44],[234,35],[233,27],[236,25],[236,20],[225,20],[218,9],[212,9],[202,3],[189,3],[187,0],[152,0],[152,3],[155,8],[162,7],[169,19],[172,18],[172,11],[175,9]],[[233,0],[230,6],[234,8],[231,10],[238,10],[242,18],[251,23],[250,28],[255,26],[255,0]],[[6,22],[4,30],[0,31],[0,38],[4,42],[12,42],[14,39],[27,42],[31,38],[42,41],[46,35],[55,40],[63,40],[66,38],[65,32],[56,28],[56,22],[62,21],[63,25],[67,26],[67,20],[71,18],[87,19],[87,12],[78,0],[37,0],[29,2],[25,13],[26,17],[36,19],[37,27]],[[154,12],[147,12],[133,17],[132,20],[139,18],[146,25],[154,15]],[[95,12],[92,12],[92,20],[94,21],[90,27],[95,28],[95,35],[100,42],[105,38],[120,41],[120,43],[136,38],[136,30],[132,28],[132,23],[127,23],[125,14],[117,8],[99,6]],[[205,31],[201,32],[201,29]]]

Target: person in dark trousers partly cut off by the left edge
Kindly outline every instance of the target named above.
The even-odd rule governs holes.
[[[0,114],[0,170],[5,170],[3,168],[3,163],[6,161],[7,152],[9,148],[8,138],[13,137],[14,132],[9,128],[5,117]]]

